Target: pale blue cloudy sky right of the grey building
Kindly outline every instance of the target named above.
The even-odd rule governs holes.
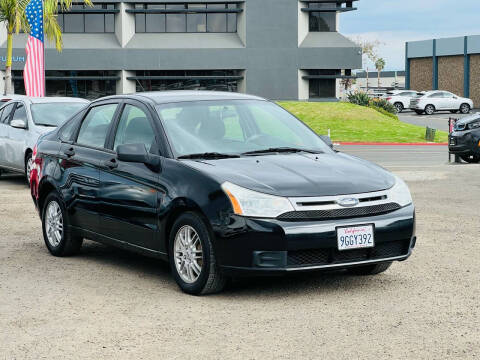
[[[359,0],[354,6],[340,14],[340,33],[382,42],[385,70],[405,69],[406,41],[480,35],[480,0]],[[371,63],[369,71],[375,71]]]

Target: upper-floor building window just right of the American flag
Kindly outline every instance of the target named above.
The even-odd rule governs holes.
[[[58,24],[63,33],[115,32],[115,4],[72,4],[69,11],[58,11]]]

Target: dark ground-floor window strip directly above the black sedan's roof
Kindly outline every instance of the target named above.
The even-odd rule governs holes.
[[[238,91],[243,79],[240,70],[137,71],[128,78],[136,81],[137,92],[163,90]]]

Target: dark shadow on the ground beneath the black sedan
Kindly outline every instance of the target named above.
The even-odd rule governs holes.
[[[142,277],[148,278],[149,281],[167,283],[172,286],[172,289],[175,289],[174,291],[180,291],[172,277],[169,264],[159,259],[92,241],[85,241],[81,253],[77,257],[126,271],[142,273]],[[382,278],[382,286],[390,283],[388,275],[377,275],[377,277]],[[273,277],[236,278],[229,279],[223,292],[211,296],[230,299],[232,296],[251,298],[279,295],[304,296],[311,292],[315,292],[315,294],[346,293],[360,288],[364,290],[376,287],[375,278],[374,276],[353,276],[343,270]],[[391,283],[395,283],[395,279],[391,277],[390,279]]]

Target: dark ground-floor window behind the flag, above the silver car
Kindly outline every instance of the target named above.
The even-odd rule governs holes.
[[[97,99],[115,95],[116,81],[120,79],[116,71],[55,71],[47,70],[46,96],[72,96]],[[23,72],[13,72],[15,94],[25,94]]]

